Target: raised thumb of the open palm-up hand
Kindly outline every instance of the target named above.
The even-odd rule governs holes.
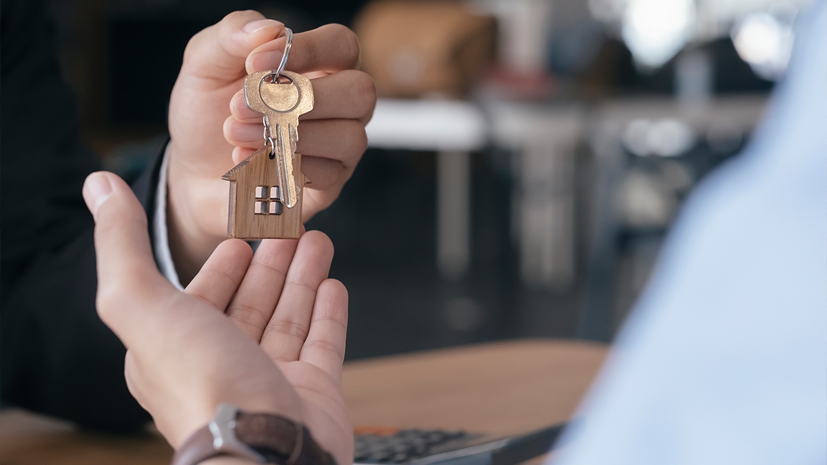
[[[131,319],[141,315],[131,310],[146,308],[172,287],[155,266],[146,213],[127,183],[98,171],[86,178],[83,194],[95,218],[98,314],[123,340]]]

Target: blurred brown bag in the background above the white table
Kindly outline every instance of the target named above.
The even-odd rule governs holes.
[[[462,97],[495,54],[495,18],[462,2],[370,2],[354,28],[362,69],[383,97]]]

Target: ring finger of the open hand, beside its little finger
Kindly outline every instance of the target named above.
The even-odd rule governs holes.
[[[323,232],[299,239],[279,303],[261,335],[261,348],[274,361],[294,362],[308,337],[316,290],[327,279],[333,244]]]

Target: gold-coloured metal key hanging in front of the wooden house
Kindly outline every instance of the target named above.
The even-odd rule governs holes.
[[[265,131],[272,145],[270,158],[277,161],[281,203],[292,209],[301,194],[304,179],[296,180],[294,159],[299,141],[299,116],[313,109],[313,86],[303,75],[284,71],[280,79],[275,70],[259,71],[244,79],[247,107],[265,117]],[[273,79],[268,77],[273,76]],[[299,155],[301,156],[301,155]]]

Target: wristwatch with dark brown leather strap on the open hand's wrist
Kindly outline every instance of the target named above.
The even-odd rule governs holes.
[[[304,425],[280,415],[248,413],[234,405],[218,405],[213,420],[189,436],[172,465],[196,465],[231,455],[254,463],[336,465]]]

